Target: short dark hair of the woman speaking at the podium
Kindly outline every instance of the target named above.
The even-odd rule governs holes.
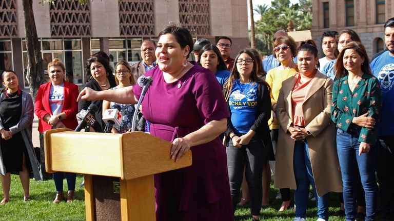
[[[184,49],[186,46],[189,46],[189,53],[187,54],[186,58],[189,57],[194,45],[193,38],[191,37],[189,30],[182,28],[175,23],[170,23],[170,25],[165,27],[157,37],[160,38],[160,36],[164,34],[172,34],[175,37],[176,42],[181,45],[182,49]]]

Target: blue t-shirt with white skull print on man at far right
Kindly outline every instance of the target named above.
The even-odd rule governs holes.
[[[394,57],[390,56],[389,51],[384,52],[372,61],[371,71],[382,88],[379,135],[394,135]]]

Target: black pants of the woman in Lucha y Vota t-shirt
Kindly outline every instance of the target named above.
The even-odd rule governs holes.
[[[241,148],[234,147],[230,140],[226,152],[233,210],[237,207],[245,166],[245,178],[250,192],[250,212],[252,215],[260,215],[263,194],[261,178],[264,157],[267,155],[262,140],[253,137],[248,145]]]

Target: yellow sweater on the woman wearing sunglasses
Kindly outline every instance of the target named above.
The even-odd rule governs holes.
[[[265,81],[271,87],[272,107],[278,101],[279,90],[282,88],[282,82],[296,73],[297,71],[294,68],[283,70],[282,67],[274,68],[268,71]],[[271,118],[268,120],[268,125],[270,130],[279,129],[278,120],[277,118],[272,118],[272,113]]]

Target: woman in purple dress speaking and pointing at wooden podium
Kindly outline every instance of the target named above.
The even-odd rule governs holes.
[[[175,161],[189,149],[190,167],[155,175],[157,220],[233,220],[226,151],[218,138],[229,113],[221,86],[208,70],[187,58],[193,48],[189,31],[169,25],[159,34],[156,66],[142,111],[150,133],[172,142]],[[137,103],[142,87],[93,91],[79,99]]]

